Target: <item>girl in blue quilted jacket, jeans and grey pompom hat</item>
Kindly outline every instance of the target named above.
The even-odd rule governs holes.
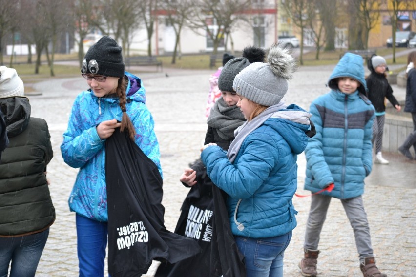
[[[228,152],[213,143],[201,149],[209,178],[229,196],[231,231],[247,277],[283,276],[284,251],[296,227],[296,160],[310,129],[311,115],[282,100],[294,58],[275,44],[267,60],[250,64],[233,81],[247,121],[236,129]]]

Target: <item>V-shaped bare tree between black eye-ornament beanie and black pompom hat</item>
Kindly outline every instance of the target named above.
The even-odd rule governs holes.
[[[172,64],[176,63],[176,56],[181,40],[181,31],[187,25],[188,14],[192,9],[192,0],[171,1],[162,0],[161,8],[166,12],[166,21],[172,26],[175,32],[175,47],[172,54]]]

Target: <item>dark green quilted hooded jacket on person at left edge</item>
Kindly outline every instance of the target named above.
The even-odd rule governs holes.
[[[0,164],[0,237],[42,232],[55,221],[55,209],[46,180],[53,157],[48,125],[31,118],[25,97],[0,99],[9,146]]]

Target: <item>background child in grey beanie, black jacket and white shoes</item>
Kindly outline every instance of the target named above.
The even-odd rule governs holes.
[[[370,76],[366,79],[368,88],[367,97],[375,108],[372,139],[373,146],[375,147],[375,163],[389,164],[389,161],[381,155],[384,118],[386,114],[385,99],[387,98],[397,111],[400,111],[401,107],[394,97],[393,89],[386,78],[386,60],[374,54],[368,60],[367,66],[371,71]]]

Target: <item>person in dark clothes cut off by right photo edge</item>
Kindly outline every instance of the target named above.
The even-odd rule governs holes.
[[[401,154],[408,159],[416,159],[416,51],[409,53],[407,57],[406,69],[406,101],[404,111],[412,114],[413,133],[411,133],[404,143],[399,147]],[[413,145],[415,157],[412,156],[409,149]]]

